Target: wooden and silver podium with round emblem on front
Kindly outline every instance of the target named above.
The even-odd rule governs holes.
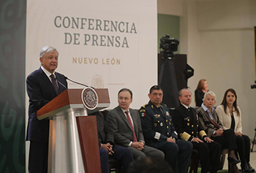
[[[83,89],[67,89],[37,111],[39,120],[50,120],[48,172],[101,172],[97,120],[87,116],[109,106],[108,89],[95,89],[98,105],[86,109]]]

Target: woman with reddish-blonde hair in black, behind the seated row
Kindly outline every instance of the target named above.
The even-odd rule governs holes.
[[[195,106],[200,107],[203,103],[203,96],[208,91],[206,80],[199,80],[197,89],[195,90]]]

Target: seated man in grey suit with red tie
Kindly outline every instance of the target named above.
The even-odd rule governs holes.
[[[146,158],[162,157],[162,151],[145,145],[138,111],[129,108],[132,103],[132,91],[123,88],[118,92],[118,107],[107,115],[107,123],[110,133],[114,135],[116,145],[128,147],[133,157]]]

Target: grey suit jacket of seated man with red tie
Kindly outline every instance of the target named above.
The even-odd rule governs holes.
[[[138,141],[144,141],[143,132],[141,129],[140,115],[138,111],[134,109],[129,109],[132,115],[133,128],[135,129],[135,134]],[[107,123],[110,128],[110,132],[114,134],[114,139],[117,145],[122,145],[127,147],[130,142],[133,141],[132,128],[129,126],[126,115],[121,110],[121,107],[115,107],[113,110],[108,112]]]

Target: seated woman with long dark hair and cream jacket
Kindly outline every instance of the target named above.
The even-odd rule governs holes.
[[[236,91],[228,89],[223,97],[222,104],[216,109],[219,120],[224,129],[233,129],[236,134],[236,145],[241,160],[241,169],[243,172],[255,172],[255,169],[249,164],[250,158],[250,139],[242,133],[241,109],[237,106]]]

